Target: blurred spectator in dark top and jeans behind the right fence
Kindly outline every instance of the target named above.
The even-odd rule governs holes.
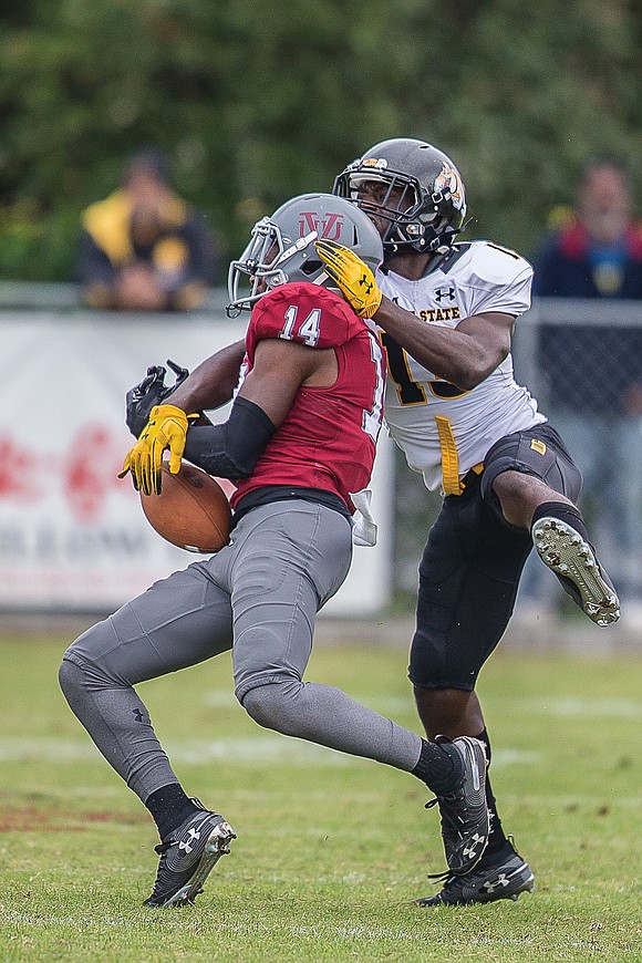
[[[534,294],[642,299],[642,227],[625,169],[594,159],[577,209],[543,241]],[[642,312],[641,312],[642,315]],[[622,621],[642,619],[642,317],[635,325],[542,325],[539,363],[551,423],[580,467],[579,506],[592,516],[622,600]]]

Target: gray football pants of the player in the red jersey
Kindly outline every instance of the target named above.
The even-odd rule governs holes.
[[[60,683],[103,756],[143,801],[177,783],[137,683],[232,649],[237,698],[260,725],[410,772],[422,741],[329,685],[303,683],[317,611],[352,556],[348,519],[290,500],[244,516],[234,541],[89,629]]]

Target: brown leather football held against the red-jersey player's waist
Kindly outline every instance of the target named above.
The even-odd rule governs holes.
[[[147,521],[172,545],[203,553],[218,551],[229,541],[231,511],[218,482],[185,462],[177,475],[163,463],[161,495],[144,495]]]

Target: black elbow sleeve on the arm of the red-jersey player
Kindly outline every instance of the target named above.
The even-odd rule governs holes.
[[[262,408],[237,397],[225,424],[189,428],[184,456],[218,478],[248,478],[276,431]]]

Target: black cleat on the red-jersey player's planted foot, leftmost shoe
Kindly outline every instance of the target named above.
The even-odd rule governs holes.
[[[189,816],[170,832],[156,852],[161,856],[158,873],[146,907],[184,907],[203,892],[203,883],[221,858],[229,852],[236,833],[217,812],[201,811]]]

